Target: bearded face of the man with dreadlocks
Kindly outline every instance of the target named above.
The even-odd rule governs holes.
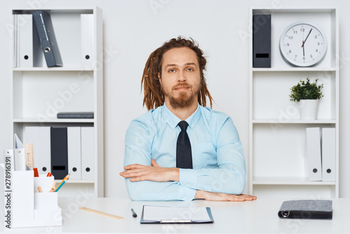
[[[160,85],[167,105],[174,109],[197,106],[200,83],[200,64],[195,51],[183,47],[164,53]]]

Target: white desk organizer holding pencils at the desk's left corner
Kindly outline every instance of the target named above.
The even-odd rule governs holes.
[[[57,204],[57,193],[50,192],[53,176],[34,172],[13,172],[11,228],[62,226],[62,209]],[[38,192],[41,186],[43,193]]]

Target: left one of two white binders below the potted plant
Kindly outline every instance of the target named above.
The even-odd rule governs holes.
[[[322,180],[320,128],[307,128],[307,171],[309,181]]]

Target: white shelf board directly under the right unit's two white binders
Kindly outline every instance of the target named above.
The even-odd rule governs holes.
[[[309,181],[307,177],[254,177],[253,184],[265,185],[335,185],[335,181]]]

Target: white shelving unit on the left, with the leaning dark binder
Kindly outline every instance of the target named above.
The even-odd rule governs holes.
[[[40,10],[50,13],[63,67],[48,68],[43,57],[43,63],[39,67],[12,68],[13,132],[10,137],[17,133],[23,139],[26,126],[94,127],[94,179],[68,180],[59,191],[59,196],[104,197],[102,10],[97,7]],[[31,14],[33,11],[13,9],[11,14]],[[91,67],[85,67],[81,62],[81,14],[94,15],[94,56]],[[11,50],[14,48],[15,45]],[[36,56],[36,52],[33,56]],[[64,111],[93,111],[94,118],[57,118],[57,112]]]

